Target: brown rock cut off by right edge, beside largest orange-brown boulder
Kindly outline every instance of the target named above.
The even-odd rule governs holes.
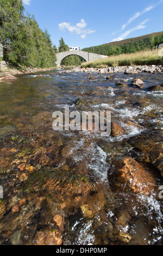
[[[161,172],[163,176],[163,149],[154,149],[150,156],[149,160],[151,163]]]

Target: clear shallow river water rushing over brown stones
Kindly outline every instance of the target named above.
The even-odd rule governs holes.
[[[40,74],[0,84],[0,243],[162,244],[162,176],[149,154],[162,149],[163,93],[147,88],[163,75]],[[130,86],[135,77],[143,89]],[[118,80],[128,86],[115,86]],[[52,114],[65,106],[111,111],[124,133],[54,131]],[[148,170],[156,193],[114,186],[114,164],[123,157]]]

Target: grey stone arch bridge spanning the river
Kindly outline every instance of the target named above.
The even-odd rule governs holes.
[[[84,51],[59,52],[59,53],[56,53],[57,66],[60,66],[62,59],[66,58],[67,56],[71,56],[71,55],[78,55],[78,56],[82,57],[83,59],[85,59],[86,62],[92,62],[93,60],[96,60],[96,59],[104,59],[104,58],[108,57],[105,55],[91,53],[91,52],[84,52]]]

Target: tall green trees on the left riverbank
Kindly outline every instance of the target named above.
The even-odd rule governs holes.
[[[24,16],[21,0],[0,2],[0,42],[4,60],[12,65],[46,68],[55,66],[55,47],[47,29],[34,16]]]

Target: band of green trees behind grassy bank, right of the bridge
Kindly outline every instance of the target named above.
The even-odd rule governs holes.
[[[134,53],[146,50],[153,50],[156,46],[163,44],[163,34],[157,36],[149,36],[148,38],[139,41],[131,40],[129,43],[122,45],[99,45],[84,48],[83,51],[103,54],[106,56],[116,56],[119,54]]]

